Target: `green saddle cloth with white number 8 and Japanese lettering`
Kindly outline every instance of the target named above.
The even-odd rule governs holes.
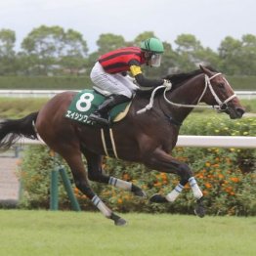
[[[96,122],[89,119],[89,115],[94,112],[104,101],[106,97],[95,90],[85,89],[77,93],[64,114],[66,118],[77,122],[95,126]],[[123,103],[113,107],[109,112],[110,122],[122,120],[127,114],[131,102]]]

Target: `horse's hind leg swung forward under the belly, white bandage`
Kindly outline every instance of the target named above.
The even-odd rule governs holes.
[[[134,184],[111,176],[107,176],[102,169],[102,155],[93,153],[87,149],[82,149],[82,152],[87,159],[89,180],[109,184],[128,192],[134,192],[135,195],[146,197],[146,192],[142,191],[139,187],[135,186]]]

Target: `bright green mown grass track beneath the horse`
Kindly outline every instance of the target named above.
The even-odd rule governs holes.
[[[0,255],[256,255],[256,218],[0,210]]]

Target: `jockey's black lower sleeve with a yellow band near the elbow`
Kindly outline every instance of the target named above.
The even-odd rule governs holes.
[[[157,87],[159,85],[163,84],[163,79],[148,79],[144,76],[142,72],[142,68],[140,64],[136,64],[133,62],[130,65],[130,71],[134,78],[136,79],[136,82],[143,87]]]

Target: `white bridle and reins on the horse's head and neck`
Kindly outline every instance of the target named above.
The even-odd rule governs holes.
[[[150,97],[150,101],[149,101],[149,105],[147,105],[146,107],[140,109],[137,111],[137,113],[143,113],[147,110],[149,110],[152,105],[153,105],[153,98],[154,98],[154,95],[156,93],[156,91],[160,88],[165,88],[164,92],[163,92],[163,98],[165,100],[166,103],[168,103],[169,105],[172,105],[174,107],[204,107],[204,108],[214,108],[216,110],[218,110],[219,112],[221,111],[226,111],[228,109],[228,103],[233,100],[236,95],[233,94],[231,97],[229,97],[228,99],[226,99],[224,102],[221,101],[221,99],[218,97],[218,95],[215,93],[214,89],[213,89],[213,86],[211,84],[211,80],[213,78],[215,78],[216,76],[218,75],[221,75],[222,73],[216,73],[214,74],[213,76],[209,77],[207,74],[204,74],[204,81],[205,81],[205,85],[204,85],[204,89],[202,91],[202,94],[200,95],[198,101],[197,101],[197,104],[196,105],[187,105],[187,104],[177,104],[177,103],[174,103],[174,102],[171,102],[167,96],[166,96],[166,92],[169,91],[171,88],[166,88],[165,86],[163,85],[160,85],[158,87],[156,87],[152,93],[151,93],[151,97]],[[223,77],[223,79],[225,79]],[[230,86],[229,82],[225,79],[226,83]],[[218,105],[215,105],[215,106],[207,106],[207,105],[199,105],[201,99],[203,98],[207,88],[210,89],[210,92],[212,94],[212,96],[214,97],[215,101],[217,102]]]

